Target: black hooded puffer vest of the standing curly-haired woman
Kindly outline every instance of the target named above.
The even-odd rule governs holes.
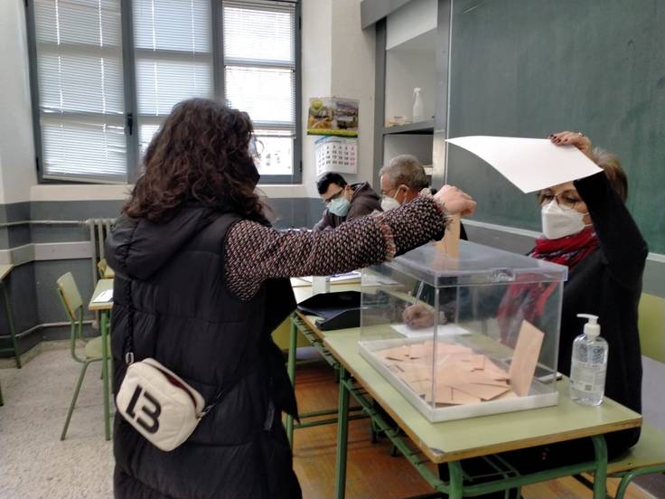
[[[206,400],[226,391],[172,452],[160,451],[116,415],[117,498],[301,495],[280,418],[283,409],[295,413],[295,397],[284,359],[270,338],[294,310],[295,299],[287,279],[268,280],[244,302],[225,287],[225,236],[238,220],[232,213],[191,204],[165,223],[121,218],[108,237],[108,263],[117,271],[111,324],[114,393],[126,372],[129,296],[136,360],[154,357]]]

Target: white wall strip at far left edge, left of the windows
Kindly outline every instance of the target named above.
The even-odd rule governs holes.
[[[23,0],[0,1],[0,203],[30,200],[36,184]]]

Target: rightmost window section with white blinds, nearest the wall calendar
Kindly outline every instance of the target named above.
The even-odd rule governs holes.
[[[259,173],[292,175],[295,4],[222,0],[224,94],[252,118]]]

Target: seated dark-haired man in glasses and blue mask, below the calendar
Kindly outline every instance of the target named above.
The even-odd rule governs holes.
[[[325,204],[323,217],[314,225],[314,231],[339,227],[345,221],[355,220],[374,211],[381,211],[379,194],[369,182],[347,184],[341,174],[327,173],[316,182],[316,188]]]

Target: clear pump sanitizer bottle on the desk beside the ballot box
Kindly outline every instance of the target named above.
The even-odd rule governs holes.
[[[570,367],[570,398],[578,404],[596,406],[603,402],[607,371],[607,342],[599,336],[598,317],[577,314],[589,319],[584,334],[573,342]]]

